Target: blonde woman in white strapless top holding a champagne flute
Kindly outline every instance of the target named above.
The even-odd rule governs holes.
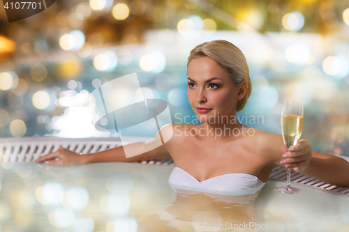
[[[134,157],[126,158],[122,147],[88,155],[59,148],[36,162],[73,165],[172,157],[175,168],[169,183],[174,189],[223,195],[257,192],[278,165],[333,185],[349,185],[346,160],[315,152],[306,140],[287,151],[281,135],[231,120],[251,95],[246,59],[235,45],[225,40],[198,45],[188,57],[187,68],[188,100],[202,125],[165,125],[161,133],[173,131],[172,138],[163,146]],[[218,132],[224,133],[217,136]],[[126,146],[155,147],[154,141]]]

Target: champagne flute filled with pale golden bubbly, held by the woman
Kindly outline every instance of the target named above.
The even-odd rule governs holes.
[[[287,150],[290,146],[298,143],[302,134],[303,127],[303,102],[283,101],[283,109],[281,112],[281,132],[283,135],[283,143]],[[297,187],[290,184],[291,169],[288,169],[287,183],[285,187],[276,187],[276,192],[296,194],[301,192]]]

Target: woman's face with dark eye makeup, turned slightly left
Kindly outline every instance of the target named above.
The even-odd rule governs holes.
[[[223,115],[230,120],[230,116],[235,116],[239,88],[214,59],[203,56],[191,60],[187,75],[188,100],[200,122],[213,122],[212,117]],[[207,110],[198,109],[200,107]]]

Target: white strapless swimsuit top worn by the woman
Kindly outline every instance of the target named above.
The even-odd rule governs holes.
[[[174,167],[170,178],[168,178],[168,184],[174,192],[177,192],[176,189],[179,189],[227,196],[240,196],[254,194],[266,183],[263,183],[257,176],[247,173],[228,173],[200,182],[183,169]]]

